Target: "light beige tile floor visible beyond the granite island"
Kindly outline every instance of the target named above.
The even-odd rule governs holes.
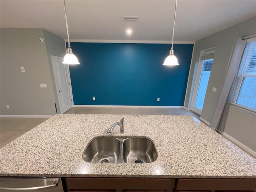
[[[73,107],[65,114],[192,115],[183,108]],[[48,118],[0,118],[0,147],[38,126]]]

